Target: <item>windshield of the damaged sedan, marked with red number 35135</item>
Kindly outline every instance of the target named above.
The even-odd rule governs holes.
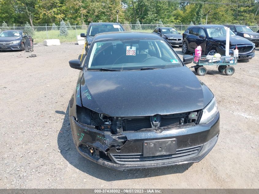
[[[180,66],[180,59],[164,40],[113,40],[93,44],[86,68],[137,70]]]

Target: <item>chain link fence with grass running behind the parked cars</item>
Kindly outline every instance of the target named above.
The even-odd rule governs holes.
[[[181,34],[191,25],[188,24],[122,24],[126,31],[134,32],[153,32],[157,27],[171,27],[176,29]],[[254,32],[259,30],[259,26],[249,26]],[[42,44],[45,39],[59,39],[61,43],[76,43],[77,36],[81,33],[86,33],[88,25],[71,25],[67,26],[66,35],[60,34],[60,26],[53,27],[52,25],[34,25],[34,27],[25,27],[24,25],[7,25],[5,27],[0,26],[1,30],[23,30],[31,33],[34,43]]]

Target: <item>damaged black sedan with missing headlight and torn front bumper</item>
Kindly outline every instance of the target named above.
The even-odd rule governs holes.
[[[112,169],[199,162],[216,144],[213,93],[152,33],[94,37],[79,69],[69,119],[78,152]],[[82,65],[81,65],[82,64]]]

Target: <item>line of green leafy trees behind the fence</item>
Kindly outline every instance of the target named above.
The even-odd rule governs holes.
[[[0,0],[0,23],[53,24],[62,20],[84,25],[90,22],[130,23],[244,23],[259,22],[259,0],[192,0],[190,3],[160,0]],[[210,13],[208,13],[211,11]]]

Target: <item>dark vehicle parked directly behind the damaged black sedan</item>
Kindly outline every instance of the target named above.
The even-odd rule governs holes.
[[[112,22],[94,22],[90,23],[87,29],[86,34],[81,33],[81,37],[86,38],[86,53],[90,48],[90,44],[93,40],[93,37],[96,34],[103,32],[122,32],[125,31],[124,28],[119,23]]]

